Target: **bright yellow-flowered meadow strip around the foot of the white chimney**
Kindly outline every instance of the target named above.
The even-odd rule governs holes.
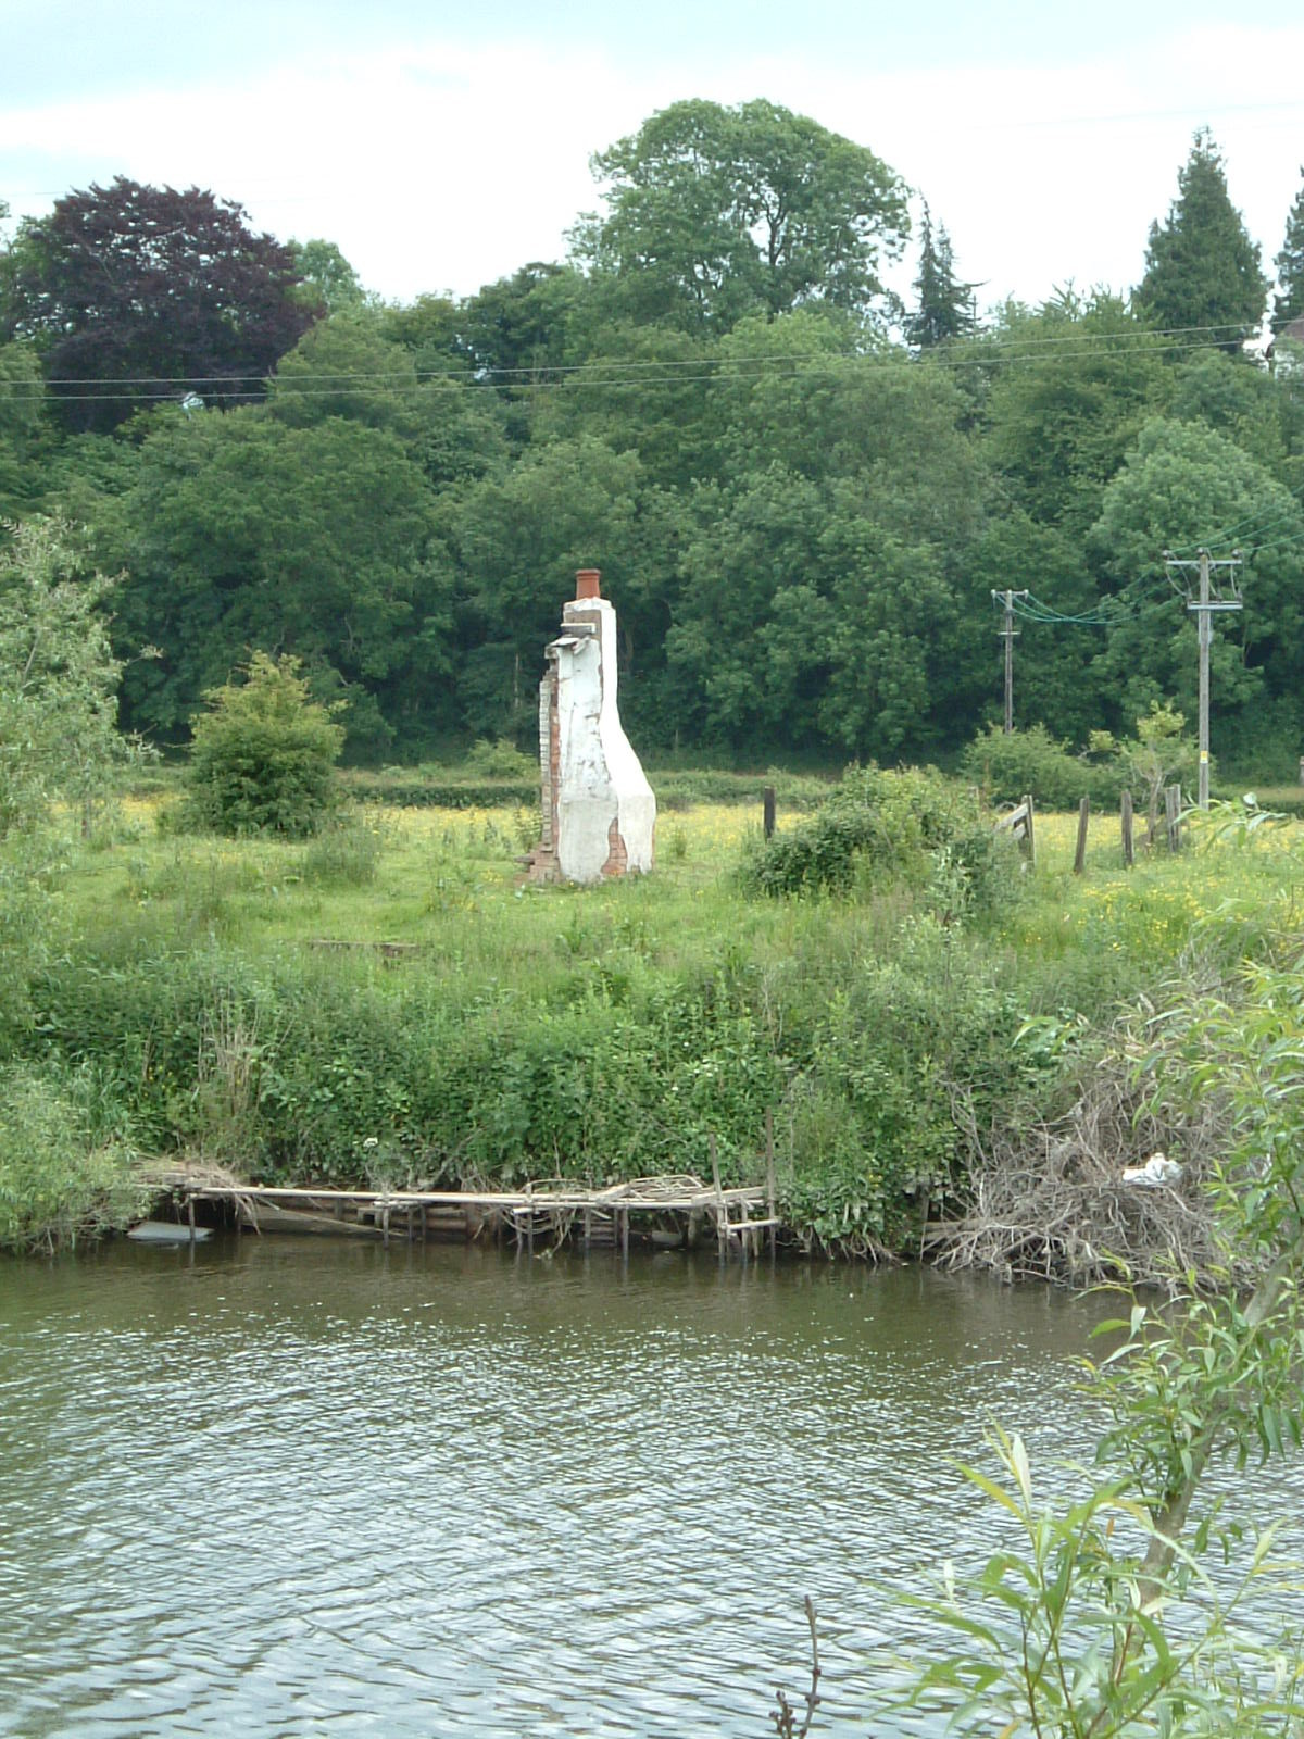
[[[167,802],[129,800],[116,838],[78,857],[64,885],[77,946],[96,949],[113,934],[172,944],[240,939],[254,948],[409,943],[435,967],[502,983],[530,981],[541,956],[555,963],[603,939],[636,941],[673,967],[722,939],[725,911],[737,948],[762,937],[795,941],[789,903],[741,901],[732,887],[739,852],[760,824],[737,805],[662,816],[655,875],[570,889],[523,882],[520,857],[536,838],[527,809],[370,805],[337,835],[292,843],[169,836],[160,831]],[[798,823],[781,817],[781,828]],[[1212,828],[1201,835],[1196,824],[1189,850],[1142,850],[1125,870],[1118,819],[1094,816],[1083,876],[1071,875],[1076,831],[1076,816],[1038,816],[1036,871],[1012,890],[995,939],[1059,953],[1094,941],[1141,949],[1158,967],[1194,925],[1238,904],[1247,920],[1292,920],[1304,868],[1301,823],[1240,843],[1214,838]],[[868,916],[828,903],[815,911],[822,929],[855,930]]]

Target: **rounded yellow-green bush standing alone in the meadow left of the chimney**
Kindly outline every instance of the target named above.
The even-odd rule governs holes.
[[[299,661],[249,661],[245,682],[205,694],[193,725],[183,823],[216,833],[306,838],[339,803],[339,703],[308,697]]]

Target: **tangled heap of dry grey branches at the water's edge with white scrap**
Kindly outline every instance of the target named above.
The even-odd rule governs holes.
[[[1250,1263],[1227,1273],[1207,1189],[1227,1136],[1226,1099],[1217,1090],[1156,1092],[1130,1026],[1120,1026],[1080,1073],[1068,1111],[1048,1122],[981,1130],[958,1092],[955,1113],[974,1153],[974,1189],[961,1217],[928,1226],[941,1264],[1074,1287],[1130,1278],[1170,1292],[1193,1278],[1201,1287],[1254,1280]],[[1125,1179],[1160,1156],[1149,1177]]]

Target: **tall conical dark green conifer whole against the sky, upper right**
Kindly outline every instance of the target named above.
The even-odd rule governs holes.
[[[1156,325],[1238,350],[1262,320],[1267,280],[1259,243],[1227,195],[1222,153],[1207,127],[1177,172],[1168,221],[1149,228],[1137,303]]]

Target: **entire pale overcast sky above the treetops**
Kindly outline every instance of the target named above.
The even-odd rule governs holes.
[[[1304,10],[1141,0],[0,0],[0,200],[196,183],[369,289],[560,259],[589,153],[680,97],[763,96],[930,202],[981,299],[1127,290],[1214,129],[1264,264],[1304,163]],[[913,256],[902,283],[909,282]]]

